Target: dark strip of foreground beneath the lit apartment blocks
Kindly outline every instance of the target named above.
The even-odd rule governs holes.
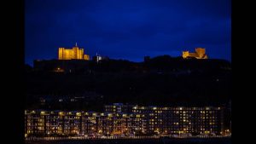
[[[231,144],[230,138],[26,141],[26,144]]]

